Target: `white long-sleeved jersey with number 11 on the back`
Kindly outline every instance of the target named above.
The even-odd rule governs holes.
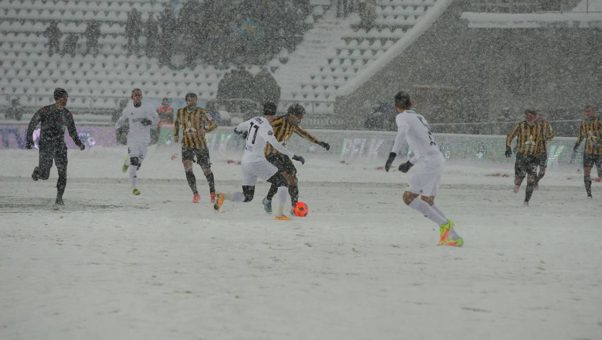
[[[264,117],[258,116],[242,122],[238,124],[235,130],[238,132],[247,131],[247,144],[244,146],[243,163],[264,160],[264,149],[267,143],[272,144],[276,150],[291,158],[294,156],[294,153],[278,143],[278,140],[274,137],[272,125]]]

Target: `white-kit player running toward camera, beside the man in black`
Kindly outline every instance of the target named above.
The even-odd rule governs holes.
[[[128,158],[123,162],[122,172],[125,173],[129,168],[132,194],[139,195],[140,190],[136,188],[136,173],[142,165],[149,144],[151,144],[151,126],[159,123],[159,115],[151,105],[142,104],[140,88],[132,90],[131,98],[132,104],[123,109],[121,117],[115,123],[115,129],[119,129],[126,120],[129,121]]]

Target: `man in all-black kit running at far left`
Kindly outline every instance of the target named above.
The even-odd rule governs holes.
[[[40,148],[40,164],[34,168],[31,178],[34,181],[38,179],[46,180],[50,176],[50,168],[52,161],[57,165],[58,181],[57,181],[57,200],[56,205],[64,205],[63,193],[67,186],[67,145],[65,144],[65,128],[69,131],[69,135],[79,147],[79,150],[84,150],[85,145],[79,140],[73,116],[65,108],[67,105],[67,91],[63,88],[55,88],[54,100],[55,103],[38,110],[27,129],[26,149],[31,149],[34,146],[34,129],[40,123],[40,140],[38,145]]]

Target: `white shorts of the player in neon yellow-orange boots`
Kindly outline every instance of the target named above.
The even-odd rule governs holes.
[[[427,156],[420,160],[414,175],[408,183],[408,191],[420,196],[435,196],[441,187],[441,174],[445,158],[438,155]]]

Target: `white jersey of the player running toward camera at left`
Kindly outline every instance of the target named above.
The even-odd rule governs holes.
[[[140,120],[145,118],[151,120],[152,124],[143,125]],[[134,107],[134,104],[130,103],[123,109],[121,117],[115,123],[115,128],[119,129],[126,120],[129,120],[128,143],[151,143],[151,127],[157,126],[159,123],[159,115],[151,105],[142,104],[140,107]]]

